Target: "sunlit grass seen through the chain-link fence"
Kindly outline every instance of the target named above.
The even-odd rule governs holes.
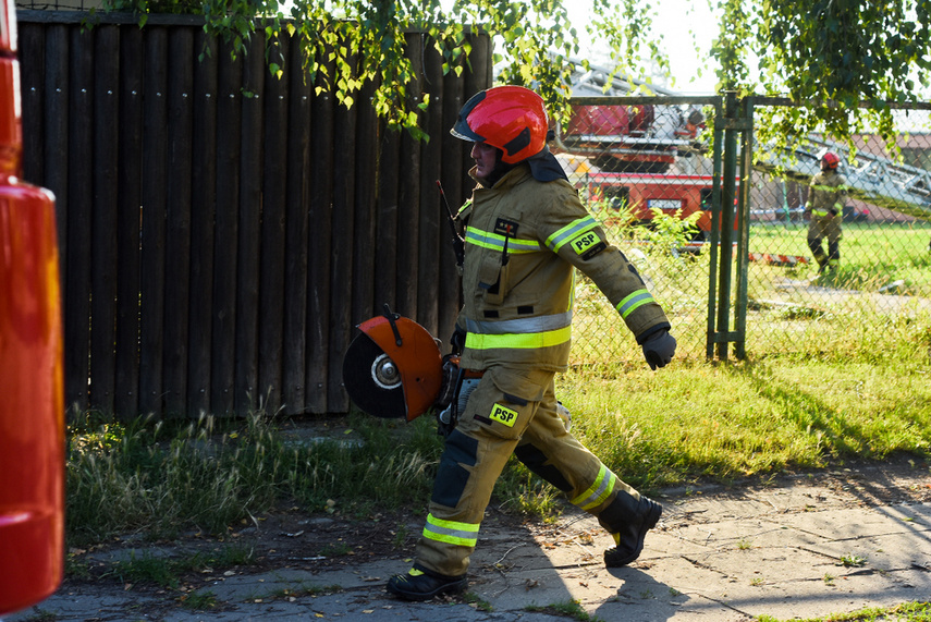
[[[664,219],[660,219],[660,223]],[[679,343],[679,356],[703,359],[708,341],[708,247],[697,256],[667,251],[681,244],[682,231],[666,232],[663,243],[651,243],[642,233],[616,228],[610,234],[637,266],[647,285],[663,305]],[[874,333],[882,340],[890,321],[908,321],[931,314],[931,224],[845,225],[838,273],[812,280],[817,266],[781,267],[750,261],[747,270],[746,347],[752,353],[810,351],[809,340],[832,349],[846,339],[848,327]],[[754,224],[749,252],[800,255],[811,259],[806,225]],[[728,330],[736,324],[737,273],[731,279]],[[809,285],[809,280],[812,280]],[[716,284],[720,292],[721,285]],[[846,292],[834,295],[833,291]],[[576,288],[576,345],[573,362],[593,364],[604,359],[636,359],[637,349],[616,312],[597,288],[581,279]]]

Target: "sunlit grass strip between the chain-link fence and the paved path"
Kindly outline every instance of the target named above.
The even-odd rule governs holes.
[[[931,382],[917,361],[685,364],[652,376],[588,371],[562,377],[558,393],[574,413],[579,440],[645,487],[893,453],[928,456],[931,448]]]

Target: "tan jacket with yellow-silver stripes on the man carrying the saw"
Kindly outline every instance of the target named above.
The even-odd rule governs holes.
[[[474,175],[475,169],[470,171]],[[587,275],[642,343],[670,324],[636,268],[564,179],[540,182],[524,163],[477,186],[465,224],[461,365],[562,371],[571,345],[573,268]]]

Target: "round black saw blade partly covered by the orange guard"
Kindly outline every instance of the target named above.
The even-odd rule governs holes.
[[[350,399],[369,415],[407,415],[397,366],[365,333],[357,334],[346,349],[343,357],[343,386]]]

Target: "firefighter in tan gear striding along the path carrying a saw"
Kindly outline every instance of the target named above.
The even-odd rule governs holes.
[[[478,183],[456,216],[465,231],[464,305],[451,342],[464,380],[416,560],[388,582],[408,600],[465,589],[485,509],[512,453],[613,535],[609,568],[637,559],[662,513],[561,417],[553,378],[568,363],[574,268],[615,306],[652,369],[671,361],[676,341],[637,270],[583,207],[547,132],[543,100],[519,86],[475,95],[451,130],[473,143],[469,175]]]

